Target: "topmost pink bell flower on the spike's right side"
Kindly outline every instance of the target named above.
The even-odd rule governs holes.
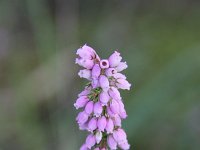
[[[120,53],[115,51],[109,58],[108,58],[108,61],[109,61],[109,64],[110,64],[110,67],[116,67],[119,65],[119,63],[121,62],[122,60],[122,57],[120,56]]]

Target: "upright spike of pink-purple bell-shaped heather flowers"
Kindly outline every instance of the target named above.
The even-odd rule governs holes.
[[[84,45],[77,50],[76,63],[84,67],[78,75],[89,80],[74,106],[83,110],[76,117],[80,130],[90,134],[80,150],[128,150],[121,120],[127,117],[118,89],[130,90],[131,84],[120,72],[128,66],[115,51],[108,59],[100,59],[94,49]]]

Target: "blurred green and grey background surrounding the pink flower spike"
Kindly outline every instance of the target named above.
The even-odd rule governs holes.
[[[199,150],[199,0],[1,0],[0,150],[79,149],[85,43],[129,65],[131,150]]]

